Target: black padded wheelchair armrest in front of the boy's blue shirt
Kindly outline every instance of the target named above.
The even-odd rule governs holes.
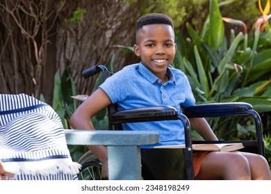
[[[138,109],[126,109],[113,112],[110,121],[117,123],[134,123],[144,121],[175,120],[178,118],[178,112],[174,107],[144,107]]]

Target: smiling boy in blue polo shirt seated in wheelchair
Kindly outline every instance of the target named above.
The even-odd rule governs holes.
[[[90,118],[111,103],[118,109],[170,105],[178,112],[195,105],[195,98],[183,72],[170,66],[176,52],[173,22],[167,15],[153,13],[136,23],[133,46],[142,62],[131,64],[108,78],[76,109],[71,122],[74,128],[95,130]],[[114,86],[112,88],[111,86]],[[204,118],[190,118],[192,127],[206,140],[217,140]],[[184,143],[181,121],[126,123],[124,130],[155,130],[158,145]],[[89,147],[103,164],[107,176],[107,151],[104,146]],[[260,155],[243,152],[198,152],[194,154],[195,179],[270,179],[267,161]]]

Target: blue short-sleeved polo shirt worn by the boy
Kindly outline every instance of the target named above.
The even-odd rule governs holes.
[[[167,105],[181,112],[181,106],[195,105],[195,98],[185,74],[170,66],[167,68],[167,76],[170,80],[163,83],[140,62],[126,66],[110,76],[100,88],[108,94],[112,103],[117,103],[118,110]],[[160,143],[156,145],[184,144],[181,121],[124,123],[122,126],[124,130],[158,132]]]

